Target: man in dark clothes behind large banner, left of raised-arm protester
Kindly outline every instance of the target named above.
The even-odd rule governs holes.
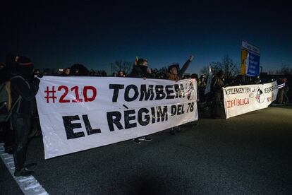
[[[129,77],[134,78],[149,78],[151,75],[151,69],[148,68],[147,59],[138,59],[137,63],[133,66],[132,72],[130,73]],[[142,136],[140,138],[134,138],[134,143],[141,143],[140,141],[152,141],[150,136]]]

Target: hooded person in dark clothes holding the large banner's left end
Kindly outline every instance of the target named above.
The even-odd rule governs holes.
[[[25,167],[25,158],[39,79],[33,78],[34,66],[28,57],[16,57],[16,64],[15,74],[11,77],[12,104],[16,104],[12,111],[11,122],[16,137],[16,148],[13,153],[16,166],[14,175],[18,177],[32,174],[32,171]]]

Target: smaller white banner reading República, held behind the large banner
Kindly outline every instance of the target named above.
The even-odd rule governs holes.
[[[278,93],[276,81],[223,88],[226,119],[268,107]]]

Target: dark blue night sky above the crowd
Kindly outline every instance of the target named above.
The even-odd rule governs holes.
[[[232,2],[232,3],[231,3]],[[240,3],[239,3],[240,2]],[[200,73],[224,54],[240,66],[241,41],[260,47],[263,71],[292,65],[292,6],[274,1],[39,1],[1,3],[1,61],[28,56],[39,69],[74,63],[110,71],[116,59],[151,68],[195,61]]]

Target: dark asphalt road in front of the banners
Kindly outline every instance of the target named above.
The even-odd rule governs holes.
[[[292,194],[292,107],[44,160],[42,139],[28,148],[35,178],[49,194]],[[0,194],[21,194],[0,162]]]

